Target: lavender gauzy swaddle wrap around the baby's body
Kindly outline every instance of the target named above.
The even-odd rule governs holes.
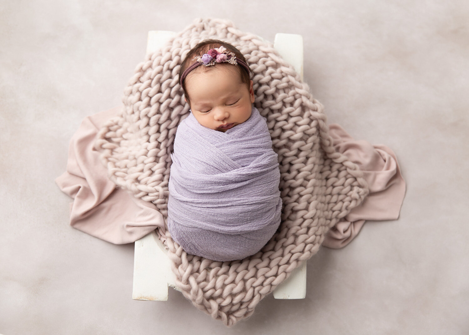
[[[167,226],[189,254],[212,260],[255,254],[280,225],[280,170],[265,117],[226,132],[192,113],[178,126],[169,177]]]

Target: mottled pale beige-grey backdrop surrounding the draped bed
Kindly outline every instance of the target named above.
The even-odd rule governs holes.
[[[133,245],[70,228],[54,183],[82,119],[121,104],[147,31],[196,17],[303,35],[328,123],[388,145],[407,182],[399,220],[308,261],[305,299],[266,297],[233,328],[172,289],[132,300]],[[462,0],[0,1],[0,333],[468,334],[468,22]]]

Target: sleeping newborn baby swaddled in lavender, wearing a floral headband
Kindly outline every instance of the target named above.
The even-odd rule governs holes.
[[[174,139],[167,226],[192,255],[246,258],[280,225],[278,156],[252,105],[250,71],[239,50],[219,40],[197,44],[182,62],[191,113]]]

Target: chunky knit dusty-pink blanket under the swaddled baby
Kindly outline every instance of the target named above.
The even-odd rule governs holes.
[[[167,229],[157,231],[182,294],[229,327],[318,251],[325,233],[363,201],[368,187],[357,165],[334,150],[322,105],[272,43],[218,19],[195,20],[138,64],[122,115],[106,123],[95,143],[108,178],[167,216],[170,153],[177,126],[189,114],[178,71],[204,38],[225,40],[245,55],[254,71],[254,105],[267,120],[280,164],[280,227],[256,254],[212,261],[187,254]]]

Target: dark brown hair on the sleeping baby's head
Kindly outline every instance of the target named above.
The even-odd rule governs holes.
[[[192,49],[190,49],[189,53],[186,55],[186,58],[182,61],[181,68],[179,69],[179,78],[181,78],[182,73],[191,66],[195,60],[193,60],[194,57],[197,56],[202,56],[204,53],[207,53],[210,49],[215,49],[220,46],[224,46],[228,52],[234,53],[236,58],[239,58],[240,60],[244,61],[246,64],[248,63],[242,53],[236,49],[232,44],[220,41],[219,39],[204,39],[202,42],[198,43],[196,46],[194,46]],[[216,65],[215,65],[216,66]],[[236,68],[238,68],[238,71],[241,75],[241,82],[243,84],[246,84],[248,87],[248,90],[250,88],[250,73],[244,69],[244,67],[240,65],[235,65]],[[213,66],[207,67],[207,68],[212,68]],[[200,68],[200,66],[199,66]],[[249,69],[250,72],[252,73],[252,70]],[[189,95],[187,94],[186,91],[186,81],[182,82],[182,90],[184,91],[184,96],[189,103]]]

